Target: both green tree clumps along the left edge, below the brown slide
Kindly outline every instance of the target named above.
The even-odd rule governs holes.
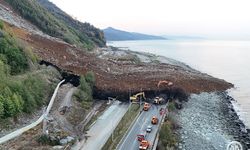
[[[50,88],[39,75],[18,78],[29,70],[29,57],[0,24],[0,119],[16,120],[20,113],[42,106]]]

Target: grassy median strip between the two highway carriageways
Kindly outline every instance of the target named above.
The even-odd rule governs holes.
[[[139,111],[140,106],[138,104],[132,104],[130,106],[129,110],[122,117],[121,121],[115,128],[113,135],[109,137],[108,141],[102,147],[102,150],[113,150],[116,148],[117,144],[120,142]]]

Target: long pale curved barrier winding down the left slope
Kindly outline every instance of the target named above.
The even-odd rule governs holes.
[[[46,109],[46,112],[45,112],[44,114],[42,114],[41,117],[40,117],[39,119],[37,119],[35,122],[31,123],[30,125],[27,125],[27,126],[25,126],[25,127],[23,127],[23,128],[20,128],[20,129],[14,131],[14,132],[11,132],[11,133],[9,133],[9,134],[7,134],[7,135],[1,137],[1,138],[0,138],[0,144],[3,144],[3,143],[5,143],[5,142],[7,142],[7,141],[9,141],[9,140],[11,140],[11,139],[13,139],[13,138],[15,138],[15,137],[18,137],[18,136],[20,136],[21,134],[23,134],[24,132],[26,132],[26,131],[28,131],[28,130],[34,128],[34,127],[37,126],[38,124],[40,124],[40,123],[45,119],[45,117],[49,114],[49,111],[51,110],[51,108],[52,108],[52,106],[53,106],[53,103],[54,103],[54,101],[55,101],[55,97],[56,97],[56,94],[57,94],[57,92],[58,92],[58,89],[59,89],[60,85],[61,85],[64,81],[65,81],[65,80],[62,80],[60,83],[58,83],[58,85],[57,85],[57,87],[56,87],[56,89],[55,89],[55,91],[54,91],[54,93],[53,93],[53,96],[52,96],[51,99],[50,99],[50,102],[49,102],[49,105],[48,105],[48,107],[47,107],[47,109]]]

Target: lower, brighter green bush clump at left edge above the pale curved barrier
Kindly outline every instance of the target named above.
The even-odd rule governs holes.
[[[0,61],[0,64],[3,64]],[[42,77],[27,76],[16,79],[0,71],[0,118],[17,117],[20,113],[31,113],[44,104],[49,89]],[[3,110],[3,111],[2,111]]]

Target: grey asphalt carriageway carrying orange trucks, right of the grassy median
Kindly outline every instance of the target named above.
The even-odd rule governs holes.
[[[159,128],[160,122],[157,125],[151,124],[152,116],[157,116],[159,121],[161,121],[163,115],[160,115],[160,109],[165,108],[166,105],[151,105],[148,111],[142,111],[140,116],[135,121],[134,125],[130,131],[125,135],[120,144],[117,147],[117,150],[138,150],[139,141],[137,140],[137,135],[143,132],[146,132],[147,126],[152,126],[151,133],[146,134],[146,140],[150,142],[150,149],[154,142],[154,139],[157,134],[157,129]]]

